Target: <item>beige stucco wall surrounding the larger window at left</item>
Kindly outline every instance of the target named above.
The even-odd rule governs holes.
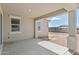
[[[10,15],[3,14],[3,41],[16,41],[23,39],[33,38],[33,19],[27,16],[21,16],[21,32],[20,33],[11,33],[10,32]],[[8,39],[8,37],[10,37]]]

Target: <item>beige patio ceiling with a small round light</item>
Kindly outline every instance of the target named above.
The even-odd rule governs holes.
[[[2,9],[4,13],[13,15],[25,15],[27,17],[36,18],[59,9],[67,11],[75,9],[79,4],[68,3],[3,3]]]

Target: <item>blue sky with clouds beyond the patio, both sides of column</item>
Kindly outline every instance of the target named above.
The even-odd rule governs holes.
[[[64,14],[48,19],[49,27],[58,27],[60,25],[68,25],[68,14]],[[77,26],[79,27],[79,10],[77,10]]]

